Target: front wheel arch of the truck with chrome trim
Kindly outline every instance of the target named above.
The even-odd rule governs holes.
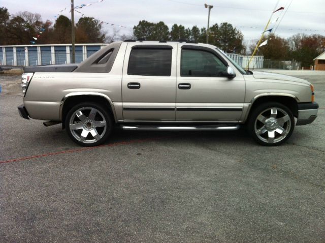
[[[255,107],[266,102],[279,102],[287,106],[295,117],[298,117],[299,99],[296,96],[291,94],[259,94],[251,100],[244,121],[247,121]]]

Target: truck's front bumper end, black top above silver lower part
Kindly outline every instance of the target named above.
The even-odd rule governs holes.
[[[296,126],[312,123],[317,117],[318,107],[316,102],[298,104],[298,120]]]

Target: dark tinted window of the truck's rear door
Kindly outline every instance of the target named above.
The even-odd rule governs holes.
[[[127,74],[171,76],[171,49],[132,49]]]

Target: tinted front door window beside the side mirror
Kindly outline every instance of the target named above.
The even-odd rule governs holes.
[[[182,49],[181,76],[218,77],[225,70],[226,66],[211,52]]]

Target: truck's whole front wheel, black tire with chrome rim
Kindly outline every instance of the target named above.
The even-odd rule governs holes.
[[[248,118],[248,132],[264,146],[284,143],[293,133],[295,119],[288,107],[278,102],[258,105]]]

